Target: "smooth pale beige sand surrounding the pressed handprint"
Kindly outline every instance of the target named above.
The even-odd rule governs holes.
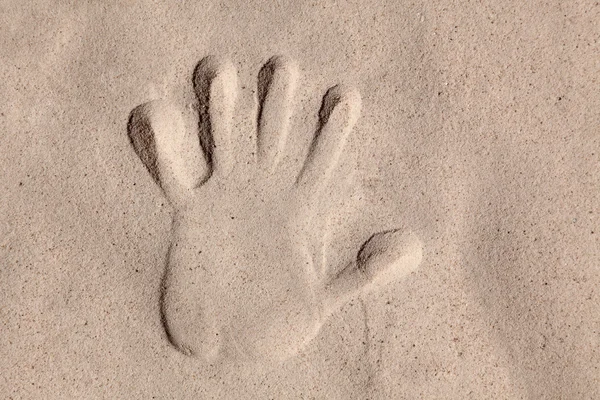
[[[0,12],[0,398],[600,398],[597,2]],[[274,369],[207,366],[160,320],[173,208],[127,121],[187,104],[207,55],[234,63],[242,132],[261,67],[297,62],[293,148],[328,88],[355,87],[340,175],[356,185],[337,193],[353,205],[330,204],[328,257],[389,229],[423,246]]]

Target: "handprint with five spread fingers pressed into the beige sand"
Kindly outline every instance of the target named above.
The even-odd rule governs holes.
[[[421,261],[420,241],[394,230],[371,236],[348,265],[322,265],[313,249],[323,236],[312,226],[361,99],[356,90],[327,91],[304,163],[289,174],[282,155],[297,79],[283,58],[262,68],[255,145],[246,149],[239,144],[248,132],[233,125],[238,81],[227,61],[207,57],[194,72],[197,131],[167,101],[131,113],[133,148],[175,210],[161,308],[167,337],[190,356],[285,360],[350,299]]]

